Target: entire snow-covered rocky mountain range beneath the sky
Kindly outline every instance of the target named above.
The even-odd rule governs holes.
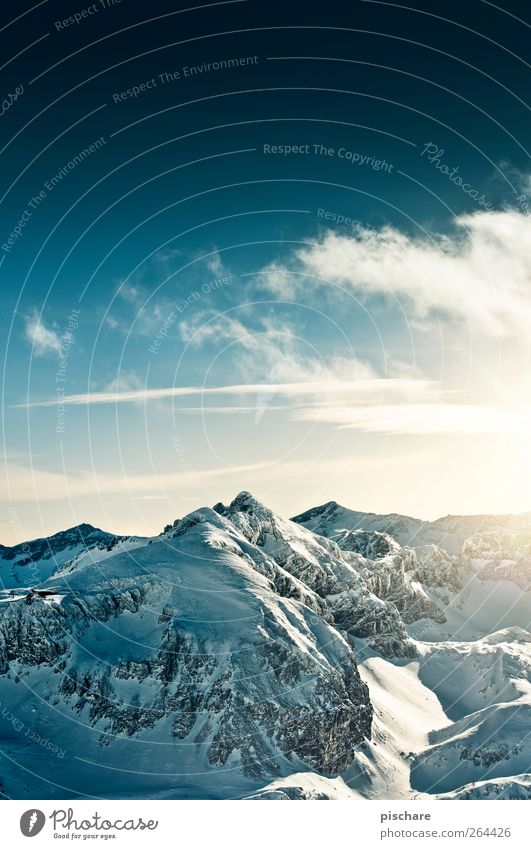
[[[242,492],[1,548],[0,792],[529,798],[526,528]]]

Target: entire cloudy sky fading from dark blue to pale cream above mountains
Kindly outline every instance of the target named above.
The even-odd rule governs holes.
[[[1,12],[0,541],[531,509],[527,10],[179,5]]]

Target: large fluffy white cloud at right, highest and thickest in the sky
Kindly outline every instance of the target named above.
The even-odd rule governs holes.
[[[439,314],[488,334],[529,338],[531,228],[516,210],[462,215],[452,235],[431,239],[393,227],[328,232],[265,271],[260,279],[277,294],[292,295],[311,278],[321,294],[336,284],[356,296],[403,301],[417,318]]]

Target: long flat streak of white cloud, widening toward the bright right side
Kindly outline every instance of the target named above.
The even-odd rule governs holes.
[[[189,397],[205,403],[179,406],[183,413],[256,415],[256,401],[241,399],[275,398],[270,408],[283,411],[293,421],[328,424],[339,429],[368,433],[449,435],[522,434],[531,428],[531,415],[525,411],[502,409],[488,404],[462,403],[454,393],[436,382],[412,378],[373,378],[363,380],[307,381],[298,383],[242,383],[226,386],[175,386],[156,389],[123,389],[66,396],[62,403],[72,406],[100,404],[149,404],[153,401]],[[212,406],[212,398],[230,403]],[[20,406],[52,407],[55,399]]]

